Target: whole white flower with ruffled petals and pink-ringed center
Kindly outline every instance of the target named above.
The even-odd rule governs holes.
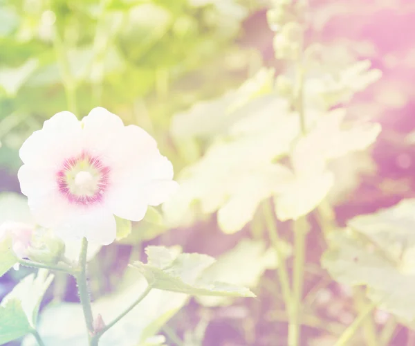
[[[30,210],[63,239],[110,244],[114,215],[140,221],[147,206],[163,203],[176,188],[172,163],[154,138],[101,107],[82,121],[68,111],[55,114],[19,154]]]

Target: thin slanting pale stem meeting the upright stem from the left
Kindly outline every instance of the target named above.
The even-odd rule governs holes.
[[[275,248],[275,253],[277,254],[277,275],[279,279],[279,284],[281,285],[282,296],[284,298],[284,303],[286,305],[287,311],[291,310],[291,289],[290,289],[290,280],[288,277],[288,271],[286,266],[286,261],[284,254],[282,253],[280,246],[280,239],[278,235],[277,223],[274,218],[273,206],[270,201],[264,203],[264,217],[266,228],[270,234],[270,241],[273,247]]]

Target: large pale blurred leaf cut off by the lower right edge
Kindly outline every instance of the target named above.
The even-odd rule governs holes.
[[[342,284],[367,285],[369,298],[401,321],[415,322],[415,199],[349,221],[329,239],[322,266]],[[353,228],[353,230],[351,229]]]

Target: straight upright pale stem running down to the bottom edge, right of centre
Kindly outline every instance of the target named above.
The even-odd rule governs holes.
[[[294,224],[293,304],[288,324],[288,346],[298,346],[301,327],[301,302],[304,284],[307,221],[305,217]]]

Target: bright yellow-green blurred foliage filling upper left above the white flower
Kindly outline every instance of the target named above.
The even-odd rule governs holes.
[[[244,80],[257,54],[234,43],[248,0],[0,1],[0,165],[54,113],[98,105],[156,136],[175,166],[175,111]]]

